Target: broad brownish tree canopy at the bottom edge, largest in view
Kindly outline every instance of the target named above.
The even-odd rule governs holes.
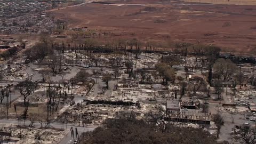
[[[193,127],[168,125],[163,132],[156,125],[131,116],[107,119],[101,127],[92,132],[83,133],[81,144],[122,144],[122,143],[173,143],[173,144],[215,144],[215,137],[209,132]]]

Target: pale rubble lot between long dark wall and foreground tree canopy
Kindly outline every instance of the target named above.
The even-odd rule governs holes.
[[[154,111],[156,105],[139,104],[138,105],[108,105],[108,104],[89,104],[86,102],[78,103],[74,107],[66,108],[66,110],[57,117],[58,122],[68,122],[77,124],[83,119],[86,119],[87,124],[100,125],[105,119],[113,118],[116,115],[129,114],[131,111],[137,115],[137,118],[142,118],[149,111]]]

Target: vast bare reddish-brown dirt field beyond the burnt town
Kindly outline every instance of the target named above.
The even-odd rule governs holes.
[[[115,38],[214,44],[231,52],[256,49],[254,5],[140,0],[91,3],[52,13],[69,27],[111,31]]]

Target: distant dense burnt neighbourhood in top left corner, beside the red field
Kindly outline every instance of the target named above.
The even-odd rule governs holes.
[[[39,34],[55,27],[50,15],[42,13],[52,9],[52,2],[4,1],[0,3],[0,31],[20,34]]]

